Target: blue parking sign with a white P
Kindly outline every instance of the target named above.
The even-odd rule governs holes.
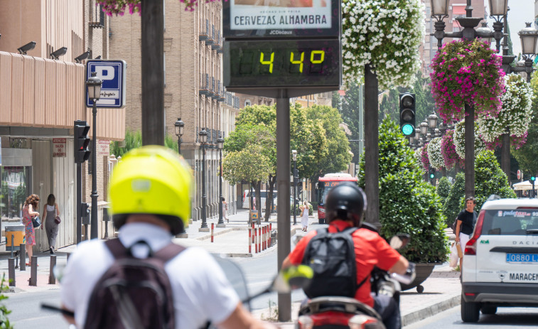
[[[124,60],[88,60],[86,63],[86,80],[97,72],[97,77],[102,80],[101,97],[97,101],[97,107],[109,107],[121,109],[125,107],[125,71],[127,63]],[[93,99],[88,97],[87,90],[86,107],[93,106]]]

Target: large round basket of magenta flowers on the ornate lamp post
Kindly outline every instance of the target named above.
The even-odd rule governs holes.
[[[505,92],[502,57],[483,41],[445,43],[431,63],[431,92],[444,122],[463,119],[465,104],[475,115],[496,116]]]

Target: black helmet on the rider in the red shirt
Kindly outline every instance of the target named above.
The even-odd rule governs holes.
[[[355,227],[362,222],[366,210],[366,195],[355,183],[343,182],[329,190],[325,200],[328,222],[335,219],[350,220]]]

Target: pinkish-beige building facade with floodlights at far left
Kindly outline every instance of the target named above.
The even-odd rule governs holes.
[[[73,122],[92,124],[91,109],[84,105],[84,62],[75,58],[86,50],[108,55],[106,20],[95,31],[92,10],[95,1],[90,0],[0,1],[1,225],[18,225],[22,203],[33,193],[41,198],[42,213],[52,193],[63,219],[56,247],[76,242]],[[35,46],[26,55],[18,53],[32,41]],[[51,53],[63,47],[65,53],[52,59]],[[99,109],[97,139],[123,138],[124,109]],[[106,204],[107,163],[107,156],[98,158],[101,206]],[[82,200],[90,203],[91,176],[84,167]],[[48,249],[44,231],[36,231],[36,241],[36,250]]]

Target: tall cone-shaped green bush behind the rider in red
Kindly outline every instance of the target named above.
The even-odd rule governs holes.
[[[414,152],[399,126],[385,119],[380,126],[380,222],[383,237],[399,232],[411,236],[401,252],[410,261],[445,261],[448,238],[441,200],[435,188],[424,182]],[[359,185],[364,187],[364,161]],[[365,218],[368,220],[368,218]]]

